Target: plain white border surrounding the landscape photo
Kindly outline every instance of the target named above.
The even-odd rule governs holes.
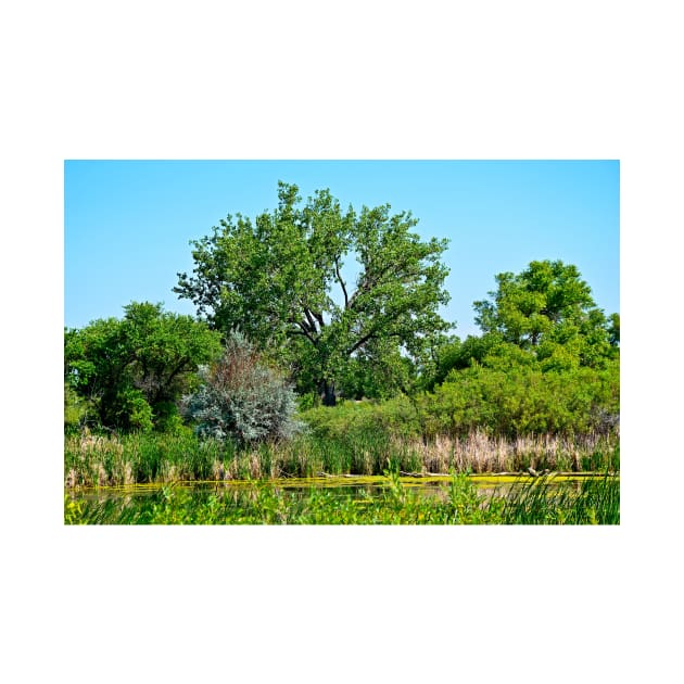
[[[1,679],[674,681],[674,8],[5,3]],[[63,161],[398,157],[621,160],[621,525],[64,527]]]

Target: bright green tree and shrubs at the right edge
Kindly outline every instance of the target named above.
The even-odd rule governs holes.
[[[574,266],[532,262],[474,303],[481,337],[438,350],[433,393],[418,398],[425,433],[606,433],[619,420],[620,317],[596,308]],[[436,387],[435,387],[436,385]]]

